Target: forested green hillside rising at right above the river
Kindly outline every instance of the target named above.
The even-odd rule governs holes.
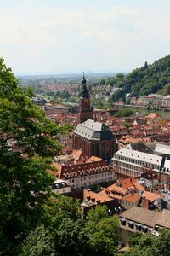
[[[127,93],[136,97],[151,93],[160,93],[164,96],[170,94],[170,55],[151,65],[145,62],[144,67],[136,68],[124,76],[116,87],[122,87],[122,91],[116,91],[113,96],[115,100]]]

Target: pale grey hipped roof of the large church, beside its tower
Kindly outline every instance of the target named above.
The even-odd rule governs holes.
[[[88,119],[82,124],[77,125],[75,134],[93,141],[112,140],[114,138],[111,130],[104,124]]]

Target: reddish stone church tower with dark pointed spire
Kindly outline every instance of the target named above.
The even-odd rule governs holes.
[[[94,107],[91,107],[90,95],[86,86],[86,79],[83,73],[82,90],[79,100],[79,123],[82,123],[87,119],[94,119]]]

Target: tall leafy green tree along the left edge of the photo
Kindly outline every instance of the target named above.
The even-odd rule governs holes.
[[[0,243],[2,255],[17,255],[20,243],[42,216],[53,178],[51,156],[60,146],[58,125],[30,100],[0,59]],[[13,151],[10,142],[19,150]],[[45,193],[44,193],[45,192]]]

